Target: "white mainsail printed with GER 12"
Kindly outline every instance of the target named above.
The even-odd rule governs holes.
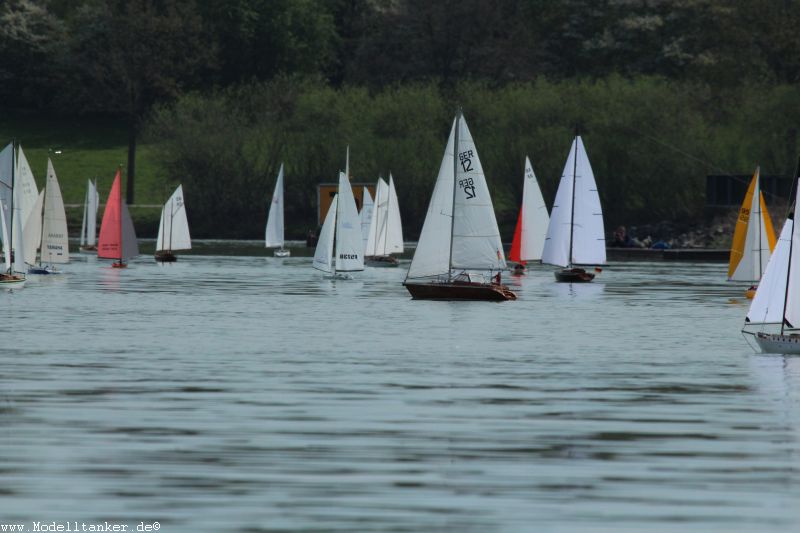
[[[504,269],[506,260],[492,198],[472,134],[463,116],[458,121],[457,140],[451,268]]]

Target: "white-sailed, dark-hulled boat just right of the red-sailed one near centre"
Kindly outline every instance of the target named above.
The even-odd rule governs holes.
[[[556,271],[555,276],[556,281],[567,283],[592,281],[594,273],[581,267],[606,263],[603,210],[589,157],[579,135],[572,141],[558,185],[542,262],[564,267]]]

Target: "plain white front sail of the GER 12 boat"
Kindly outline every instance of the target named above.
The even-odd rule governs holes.
[[[439,175],[433,187],[431,202],[422,232],[419,235],[417,249],[408,269],[408,277],[427,278],[448,276],[450,273],[450,232],[453,212],[453,146],[457,118],[450,128],[450,137],[444,149]]]

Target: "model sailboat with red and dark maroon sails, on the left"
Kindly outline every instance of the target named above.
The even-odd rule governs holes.
[[[100,239],[97,246],[97,257],[116,259],[114,268],[125,268],[125,261],[139,255],[136,232],[133,229],[128,206],[122,201],[122,172],[117,169],[111,192],[108,193],[103,222],[100,225]]]

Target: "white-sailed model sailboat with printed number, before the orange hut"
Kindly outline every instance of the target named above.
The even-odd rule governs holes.
[[[317,249],[314,251],[313,266],[331,274],[333,278],[348,279],[348,272],[364,270],[362,253],[363,241],[356,200],[350,180],[346,174],[340,172],[339,193],[333,197],[322,224]]]

